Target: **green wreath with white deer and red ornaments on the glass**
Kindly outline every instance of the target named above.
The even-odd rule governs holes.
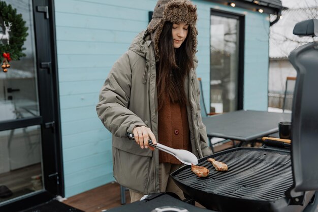
[[[0,17],[3,23],[0,22],[0,59],[3,61],[3,71],[8,71],[10,68],[10,60],[19,60],[25,56],[22,52],[24,41],[28,36],[25,21],[22,19],[22,14],[17,14],[17,10],[11,5],[0,1]],[[5,31],[3,30],[5,29]],[[10,32],[10,33],[9,33]]]

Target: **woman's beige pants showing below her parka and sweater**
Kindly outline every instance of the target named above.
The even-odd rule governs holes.
[[[173,192],[181,199],[184,199],[182,190],[174,183],[173,179],[169,176],[170,173],[180,168],[182,164],[159,164],[159,188],[161,192]],[[129,190],[131,202],[139,201],[145,194]]]

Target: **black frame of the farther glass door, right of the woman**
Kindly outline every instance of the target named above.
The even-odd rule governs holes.
[[[245,42],[245,15],[234,13],[230,11],[218,10],[218,9],[210,9],[210,16],[216,15],[226,18],[235,18],[239,22],[239,39],[238,39],[238,74],[237,74],[237,83],[238,83],[238,90],[237,90],[237,110],[242,110],[244,106],[244,42]],[[211,18],[210,18],[211,21]],[[210,22],[211,27],[211,22]],[[210,35],[211,36],[211,35]],[[211,42],[211,39],[210,39]],[[211,46],[211,44],[210,44]],[[211,53],[211,52],[210,52]],[[210,70],[211,73],[211,70]],[[211,95],[211,90],[210,90]]]

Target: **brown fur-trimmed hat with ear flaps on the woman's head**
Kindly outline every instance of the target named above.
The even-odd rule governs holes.
[[[147,33],[151,34],[156,60],[160,59],[159,40],[166,21],[172,23],[187,23],[192,29],[193,55],[197,51],[197,7],[189,0],[159,0],[153,10],[153,15],[147,27]]]

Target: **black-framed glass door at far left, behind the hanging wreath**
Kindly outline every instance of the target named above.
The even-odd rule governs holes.
[[[37,193],[63,195],[50,5],[39,0],[4,2],[8,10],[0,9],[0,49],[9,44],[6,51],[13,58],[10,61],[3,55],[7,52],[0,52],[1,64],[10,64],[6,72],[0,70],[0,211],[2,205]],[[6,12],[10,8],[16,9],[11,19]],[[17,59],[14,45],[20,37],[14,27],[20,23],[19,15],[27,36],[24,55]]]

